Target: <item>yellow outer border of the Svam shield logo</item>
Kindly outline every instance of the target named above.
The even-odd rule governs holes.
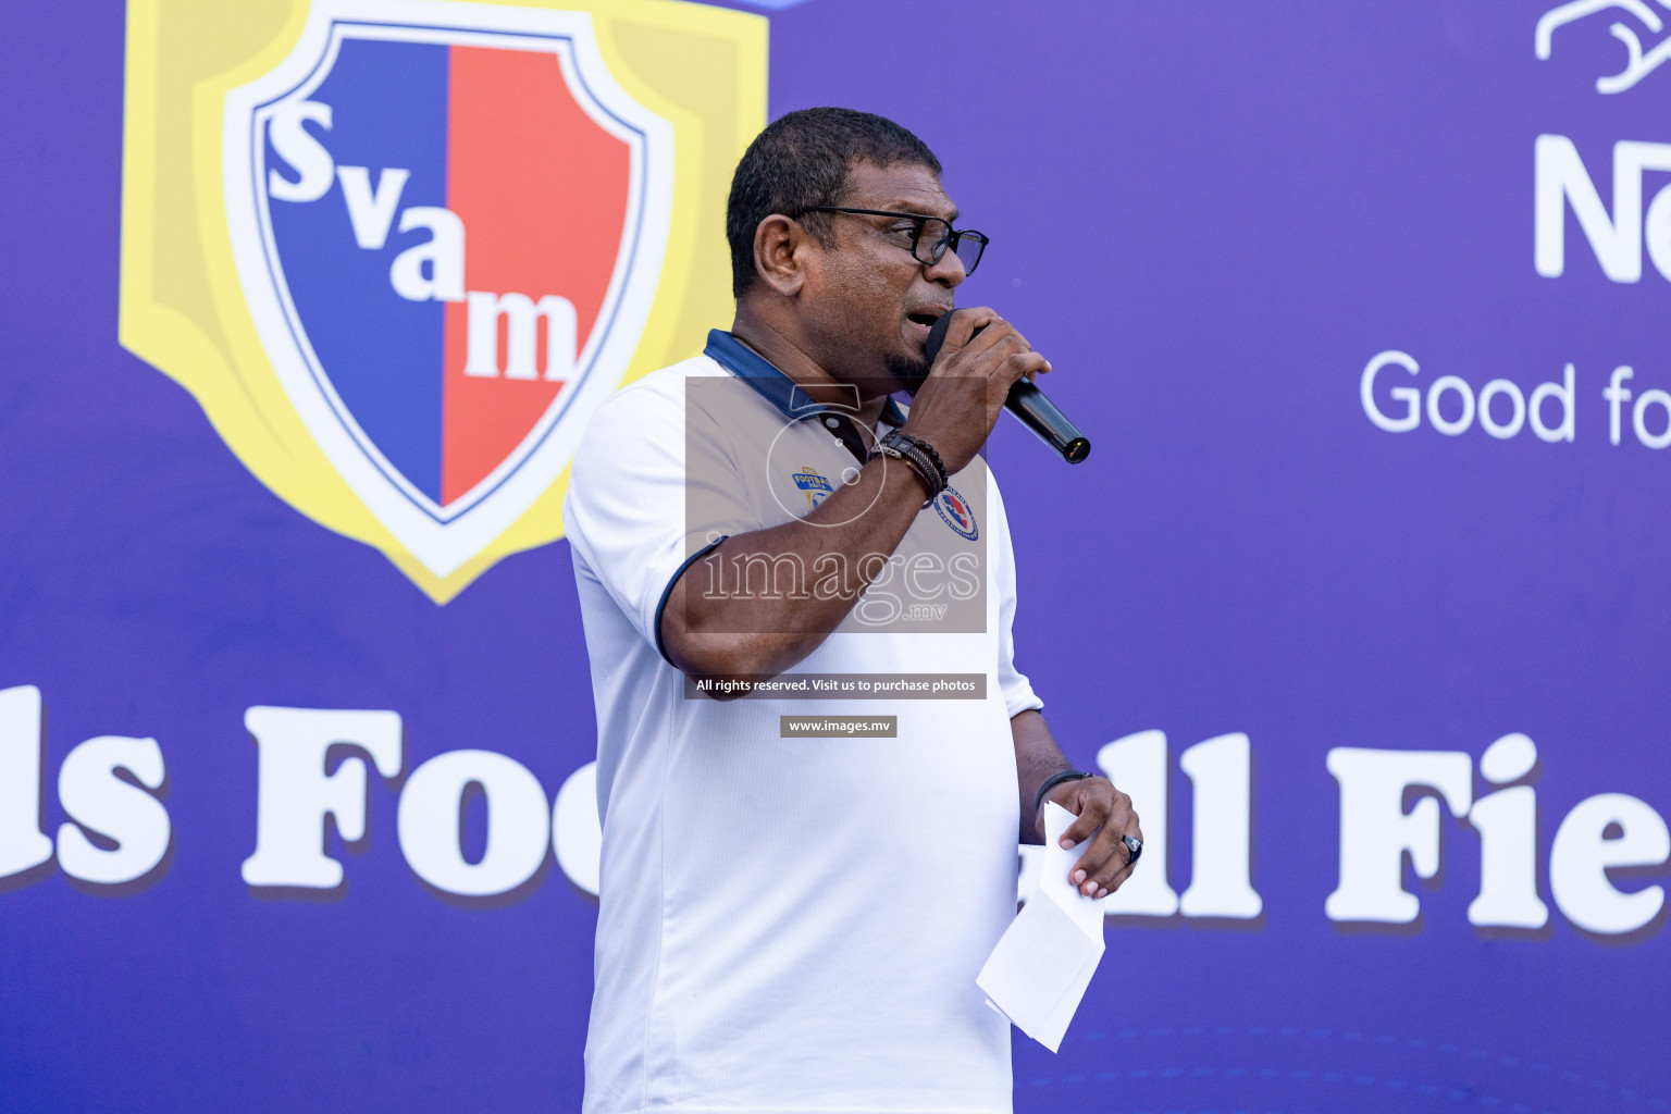
[[[471,2],[471,0],[460,0]],[[500,558],[563,536],[566,468],[458,570],[424,568],[321,451],[244,301],[222,189],[227,94],[296,48],[311,0],[130,0],[122,155],[120,341],[197,397],[232,453],[321,526],[381,549],[436,603]],[[702,349],[730,321],[725,195],[765,125],[767,22],[682,0],[473,5],[582,12],[615,82],[673,125],[660,284],[630,382]]]

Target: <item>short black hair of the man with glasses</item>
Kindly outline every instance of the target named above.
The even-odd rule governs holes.
[[[879,167],[906,162],[941,172],[927,144],[887,117],[854,109],[802,109],[772,120],[755,135],[732,175],[725,239],[732,249],[732,294],[754,286],[754,232],[772,214],[792,217],[814,205],[839,205],[854,162]],[[800,220],[829,247],[829,214]]]

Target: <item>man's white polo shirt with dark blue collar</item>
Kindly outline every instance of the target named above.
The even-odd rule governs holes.
[[[587,1114],[1011,1109],[1009,1022],[974,977],[1014,915],[1009,718],[1041,701],[984,463],[917,516],[869,620],[794,670],[979,675],[984,698],[692,698],[660,651],[693,554],[805,516],[857,466],[836,416],[715,331],[607,401],[575,456],[603,820]],[[897,737],[784,738],[787,715],[891,715]]]

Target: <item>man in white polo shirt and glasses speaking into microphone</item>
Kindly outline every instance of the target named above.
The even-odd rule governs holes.
[[[1013,663],[978,453],[1049,364],[966,309],[927,366],[986,246],[939,175],[882,117],[767,127],[725,215],[730,332],[615,394],[575,456],[603,820],[588,1114],[1008,1111],[1009,1024],[974,980],[1016,840],[1043,838],[1043,800],[1078,813],[1093,897],[1141,847]]]

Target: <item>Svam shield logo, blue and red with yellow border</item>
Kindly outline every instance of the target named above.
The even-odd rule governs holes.
[[[199,224],[227,247],[207,269],[217,304],[242,317],[229,331],[254,342],[239,354],[277,386],[256,418],[299,424],[338,483],[291,498],[264,474],[272,461],[242,451],[237,423],[217,428],[269,486],[378,544],[444,601],[493,560],[558,536],[553,513],[587,419],[625,379],[687,354],[668,351],[678,316],[717,301],[692,297],[692,249],[703,232],[719,239],[690,217],[750,139],[735,125],[752,92],[724,77],[735,150],[717,160],[692,120],[692,109],[714,115],[703,102],[715,82],[692,82],[692,104],[670,100],[665,82],[652,87],[623,62],[625,28],[600,35],[602,8],[291,7],[304,15],[287,48],[226,80],[219,212],[196,200]],[[695,5],[608,12],[623,8],[660,18],[663,38],[764,30],[757,17]],[[700,279],[724,296],[712,262]],[[125,282],[125,342],[129,294]],[[688,351],[705,324],[690,324]],[[194,386],[177,354],[129,347]],[[538,511],[543,526],[530,521]]]

